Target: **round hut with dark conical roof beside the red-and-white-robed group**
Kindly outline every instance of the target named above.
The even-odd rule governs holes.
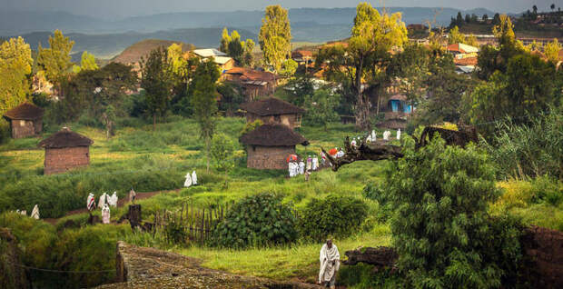
[[[261,125],[240,139],[246,145],[246,166],[255,169],[287,169],[286,158],[295,154],[295,145],[309,145],[287,125]]]

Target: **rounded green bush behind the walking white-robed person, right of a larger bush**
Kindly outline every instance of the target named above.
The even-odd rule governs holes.
[[[324,241],[328,236],[346,237],[359,229],[368,215],[368,206],[354,197],[331,194],[312,199],[300,215],[301,235]]]

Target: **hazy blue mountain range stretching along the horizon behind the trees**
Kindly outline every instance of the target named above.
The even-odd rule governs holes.
[[[494,15],[487,9],[389,7],[401,12],[406,24],[434,21],[448,25],[451,17],[461,14]],[[350,36],[355,8],[290,9],[294,42],[321,43]],[[48,35],[60,29],[75,41],[74,51],[87,50],[98,57],[110,58],[129,45],[147,38],[181,41],[196,46],[217,46],[222,27],[236,29],[243,39],[257,40],[263,11],[184,12],[128,17],[104,21],[91,16],[65,12],[0,11],[0,35],[25,37],[36,47],[47,44]]]

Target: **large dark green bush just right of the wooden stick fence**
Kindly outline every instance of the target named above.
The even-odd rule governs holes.
[[[212,239],[213,244],[231,248],[287,244],[297,239],[296,218],[282,197],[255,194],[232,206]]]

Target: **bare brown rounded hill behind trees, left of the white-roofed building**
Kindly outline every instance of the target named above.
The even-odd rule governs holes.
[[[168,47],[173,44],[183,44],[183,51],[193,50],[194,46],[190,44],[185,44],[178,41],[171,40],[160,40],[160,39],[145,39],[143,41],[133,44],[123,52],[112,59],[113,62],[121,63],[123,65],[138,63],[141,61],[142,57],[149,55],[151,51],[158,47]]]

